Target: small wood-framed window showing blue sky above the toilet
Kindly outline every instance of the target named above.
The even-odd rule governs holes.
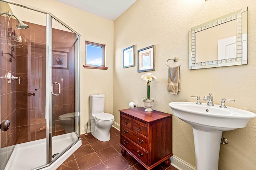
[[[86,57],[84,68],[107,70],[105,67],[105,45],[85,41]]]

